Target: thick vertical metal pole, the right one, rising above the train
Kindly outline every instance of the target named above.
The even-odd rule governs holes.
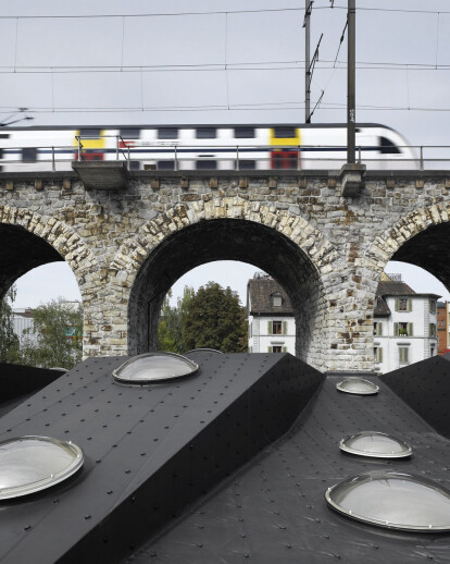
[[[347,162],[355,160],[355,0],[348,0]]]

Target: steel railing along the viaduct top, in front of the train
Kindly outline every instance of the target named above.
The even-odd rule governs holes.
[[[40,147],[0,147],[0,164],[20,164],[33,170],[37,164],[48,163],[55,171],[59,163],[75,160],[88,160],[89,156],[101,154],[104,160],[132,161],[143,165],[157,167],[166,162],[173,164],[175,171],[187,170],[196,162],[214,162],[214,165],[226,165],[227,170],[251,170],[243,164],[246,160],[254,161],[255,168],[262,170],[303,170],[314,168],[340,167],[347,160],[347,147],[342,145],[182,145],[179,143],[142,142],[124,139],[121,135],[88,136],[77,135],[74,146]],[[114,139],[103,147],[91,147],[87,142]],[[85,143],[84,143],[85,142]],[[35,151],[34,158],[26,158],[26,150]],[[395,152],[400,151],[400,152]],[[429,170],[437,167],[450,167],[450,145],[405,145],[399,147],[357,146],[358,161],[367,167],[383,169]],[[9,158],[13,157],[13,158]],[[16,157],[16,158],[14,158]],[[193,163],[193,164],[192,164]],[[258,164],[258,167],[257,167]],[[277,167],[279,164],[279,167]],[[230,165],[230,168],[228,168]],[[222,168],[221,167],[221,168]],[[243,168],[242,168],[243,167]],[[204,165],[204,169],[208,167]],[[168,170],[168,169],[167,169]]]

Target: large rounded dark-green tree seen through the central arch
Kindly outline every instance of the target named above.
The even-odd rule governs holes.
[[[187,350],[205,347],[223,353],[246,352],[246,311],[236,292],[230,287],[223,289],[216,282],[201,286],[189,303],[183,340]]]

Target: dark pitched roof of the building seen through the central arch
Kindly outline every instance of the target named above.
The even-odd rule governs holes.
[[[282,305],[274,306],[272,295],[282,296]],[[258,278],[249,280],[247,284],[247,309],[253,314],[277,314],[293,316],[293,308],[283,287],[272,278]]]

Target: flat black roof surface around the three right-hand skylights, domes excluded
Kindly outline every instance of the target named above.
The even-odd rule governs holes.
[[[433,382],[433,376],[429,377]],[[126,562],[133,564],[448,563],[450,536],[371,527],[330,510],[329,486],[370,469],[426,475],[449,488],[449,441],[433,432],[387,385],[354,396],[328,377],[292,429],[245,469],[233,474],[163,535]],[[345,454],[339,440],[363,430],[391,432],[414,447],[408,459]]]

